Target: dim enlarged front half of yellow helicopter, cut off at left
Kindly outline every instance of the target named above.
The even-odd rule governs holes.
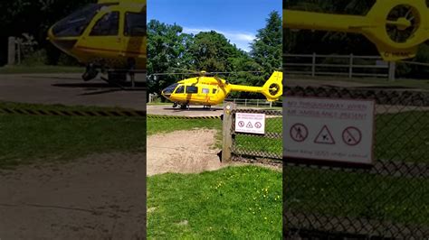
[[[108,72],[124,81],[146,72],[146,0],[100,0],[55,23],[48,40],[87,66],[83,80]]]

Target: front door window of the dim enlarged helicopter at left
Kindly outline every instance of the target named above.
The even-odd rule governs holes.
[[[91,36],[117,36],[119,34],[119,12],[104,14],[95,23]]]

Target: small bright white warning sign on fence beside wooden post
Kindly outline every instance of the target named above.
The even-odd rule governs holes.
[[[235,132],[247,134],[265,134],[265,115],[236,113]]]

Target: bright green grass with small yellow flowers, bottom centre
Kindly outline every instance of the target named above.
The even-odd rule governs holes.
[[[281,239],[281,172],[230,167],[148,178],[148,238]]]

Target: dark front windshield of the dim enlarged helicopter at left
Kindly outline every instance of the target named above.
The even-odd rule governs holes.
[[[91,4],[56,23],[52,28],[55,37],[78,37],[85,31],[92,18],[105,5]]]

